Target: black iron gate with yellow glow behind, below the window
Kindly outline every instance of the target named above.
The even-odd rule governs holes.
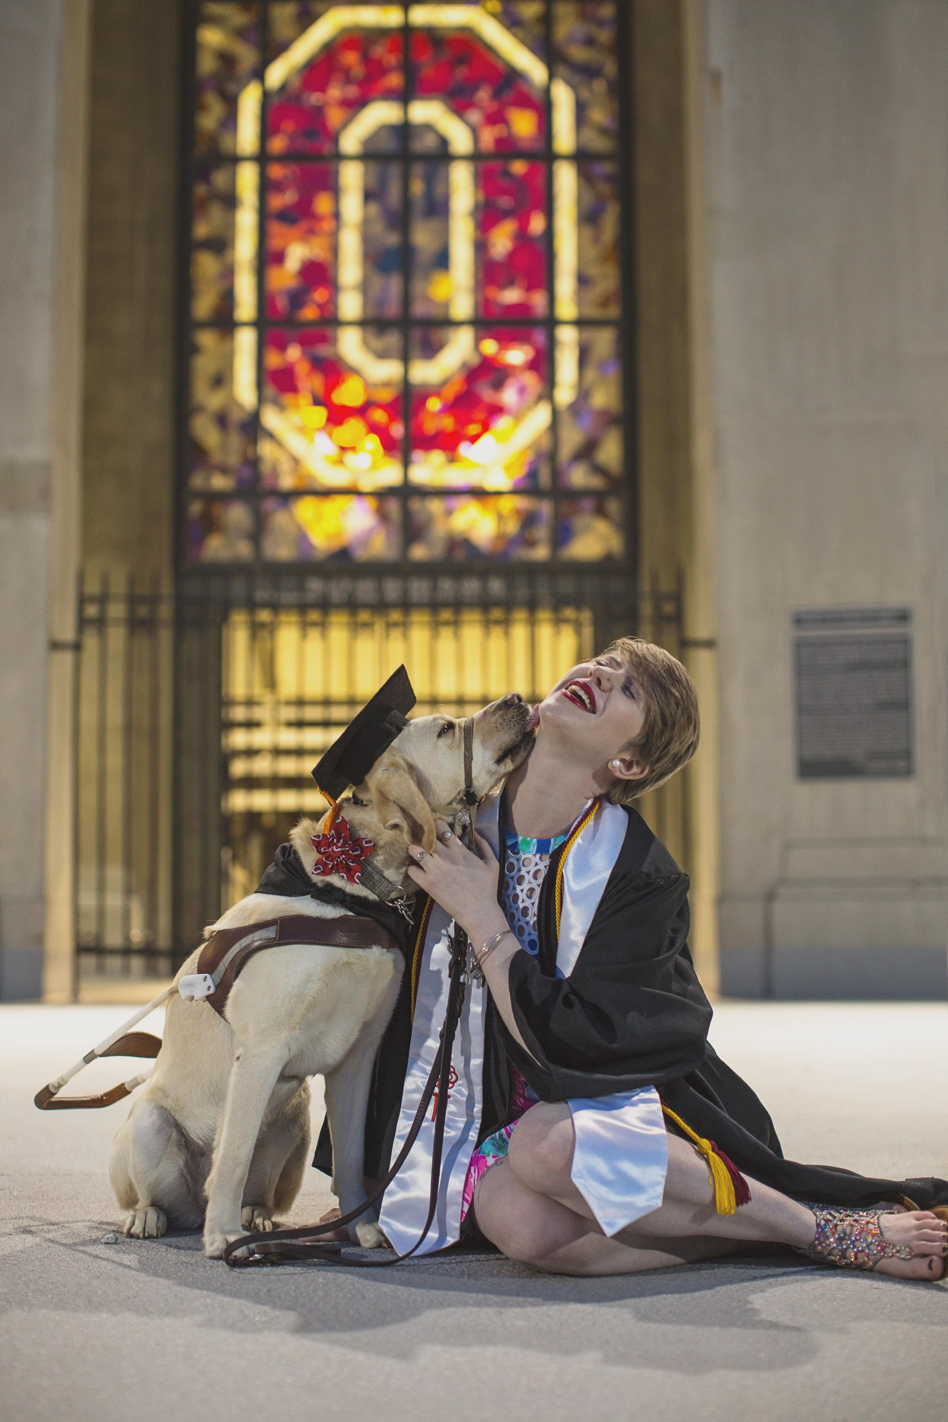
[[[530,700],[611,637],[672,650],[674,592],[623,572],[208,574],[81,596],[77,944],[81,977],[175,971],[252,892],[320,754],[405,661],[418,715]]]

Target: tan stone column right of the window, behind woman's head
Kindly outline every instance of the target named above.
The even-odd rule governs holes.
[[[695,759],[640,808],[691,875],[692,956],[715,994],[719,728],[704,21],[704,0],[632,7],[640,582],[679,592],[682,638],[671,650],[694,677],[702,720]]]

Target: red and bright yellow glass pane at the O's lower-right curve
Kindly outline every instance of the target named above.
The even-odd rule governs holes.
[[[448,327],[412,336],[412,368],[433,363]],[[429,488],[540,489],[549,485],[547,333],[480,330],[449,378],[412,392],[411,483]]]

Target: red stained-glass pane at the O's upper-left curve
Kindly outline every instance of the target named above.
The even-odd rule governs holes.
[[[399,31],[340,36],[311,64],[293,74],[270,100],[267,149],[271,154],[330,154],[338,132],[372,100],[404,92]]]

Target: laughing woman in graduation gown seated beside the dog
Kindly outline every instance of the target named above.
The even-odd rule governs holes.
[[[367,1169],[384,1173],[433,1061],[451,920],[486,980],[469,985],[452,1054],[424,1249],[476,1220],[510,1258],[553,1273],[625,1274],[756,1240],[941,1278],[948,1224],[931,1212],[948,1216],[948,1185],[783,1160],[766,1111],[706,1042],[688,880],[630,808],[698,744],[685,668],[623,638],[567,673],[534,717],[529,758],[482,806],[479,855],[443,823],[432,853],[412,850],[431,897],[379,1052]],[[399,1251],[425,1221],[432,1130],[429,1119],[384,1199]]]

